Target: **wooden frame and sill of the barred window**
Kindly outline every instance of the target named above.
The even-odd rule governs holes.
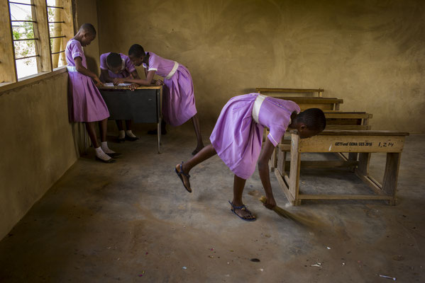
[[[10,0],[13,2],[13,0]],[[12,22],[9,0],[0,0],[0,92],[9,91],[12,88],[33,83],[45,79],[46,77],[60,74],[66,71],[66,65],[59,68],[53,68],[53,56],[50,47],[50,30],[48,20],[48,4],[46,0],[31,0],[35,37],[35,54],[37,55],[38,73],[32,76],[25,76],[18,79],[16,71],[16,58],[13,47]],[[60,0],[62,34],[60,42],[65,50],[68,40],[74,36],[74,19],[72,0]],[[7,28],[9,27],[9,28]],[[62,51],[60,50],[60,51]],[[63,51],[62,51],[63,52]]]

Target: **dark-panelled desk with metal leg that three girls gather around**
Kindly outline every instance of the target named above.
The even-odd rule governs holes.
[[[140,86],[131,91],[127,86],[102,86],[99,88],[109,110],[109,120],[133,120],[136,123],[156,123],[158,129],[158,154],[161,142],[161,88]]]

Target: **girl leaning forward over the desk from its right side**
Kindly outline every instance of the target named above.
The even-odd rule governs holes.
[[[146,79],[115,79],[114,82],[149,86],[151,83],[155,83],[153,80],[155,74],[164,77],[164,86],[162,87],[164,120],[172,126],[180,126],[192,118],[197,135],[197,147],[192,154],[197,154],[204,147],[204,142],[199,127],[192,76],[190,76],[189,70],[175,61],[164,59],[153,52],[145,52],[140,45],[132,45],[128,50],[128,57],[136,66],[143,65]],[[165,125],[162,125],[162,131],[165,132]]]

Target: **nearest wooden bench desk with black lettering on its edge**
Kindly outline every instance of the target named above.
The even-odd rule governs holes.
[[[301,204],[302,200],[388,200],[395,203],[399,161],[407,132],[367,130],[325,130],[309,139],[300,139],[291,130],[291,144],[280,144],[277,150],[276,178],[289,202]],[[290,168],[287,175],[285,156],[290,147]],[[304,152],[348,152],[351,158],[343,161],[301,161]],[[368,173],[370,154],[387,153],[387,163],[382,185]],[[374,190],[375,195],[304,195],[299,192],[300,168],[354,167],[355,174]]]

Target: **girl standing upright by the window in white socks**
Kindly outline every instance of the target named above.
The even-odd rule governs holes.
[[[96,159],[111,163],[115,161],[112,157],[119,154],[109,149],[106,141],[106,122],[109,117],[109,111],[99,90],[96,88],[96,86],[101,86],[102,83],[96,74],[87,69],[86,57],[82,49],[82,47],[89,45],[95,37],[96,30],[94,26],[90,23],[84,23],[79,28],[78,33],[68,41],[65,48],[67,69],[70,76],[70,96],[72,98],[70,118],[73,122],[85,122],[87,132],[96,152]],[[96,82],[96,85],[93,81]],[[94,129],[95,122],[99,122],[100,145]]]

